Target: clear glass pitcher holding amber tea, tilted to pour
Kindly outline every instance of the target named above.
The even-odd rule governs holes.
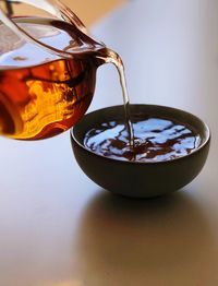
[[[118,55],[93,39],[58,0],[22,0],[51,17],[14,16],[0,8],[0,134],[19,140],[57,135],[86,112],[96,70]],[[8,9],[11,11],[11,9]]]

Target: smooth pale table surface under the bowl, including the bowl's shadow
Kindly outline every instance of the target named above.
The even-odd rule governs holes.
[[[210,126],[204,170],[173,195],[110,195],[76,165],[69,132],[0,139],[0,286],[218,285],[217,27],[217,0],[135,0],[93,29],[122,56],[132,103]],[[89,110],[121,102],[114,68],[100,68]]]

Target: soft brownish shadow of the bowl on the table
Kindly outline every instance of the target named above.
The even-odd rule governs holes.
[[[90,286],[195,285],[213,243],[185,190],[149,200],[100,191],[83,210],[76,241],[78,272]]]

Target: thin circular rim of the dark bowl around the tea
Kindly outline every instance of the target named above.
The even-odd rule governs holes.
[[[165,106],[165,105],[153,105],[153,104],[131,104],[130,106],[143,106],[143,107],[153,107],[153,108],[166,108],[168,110],[173,110],[173,111],[179,111],[179,112],[183,112],[183,114],[186,114],[189,116],[192,116],[194,118],[196,118],[205,128],[205,141],[203,143],[199,144],[199,146],[197,146],[193,152],[191,152],[190,154],[186,154],[186,155],[183,155],[183,156],[180,156],[180,157],[175,157],[173,159],[168,159],[168,160],[158,160],[158,162],[135,162],[135,160],[121,160],[121,159],[117,159],[117,158],[111,158],[111,157],[107,157],[107,156],[104,156],[104,155],[100,155],[100,154],[97,154],[95,153],[94,151],[87,148],[86,146],[84,146],[84,144],[82,144],[75,136],[75,129],[77,128],[77,123],[82,122],[83,121],[83,118],[85,118],[86,116],[89,116],[89,115],[93,115],[93,114],[96,114],[96,112],[99,112],[99,111],[104,111],[106,109],[112,109],[112,108],[119,108],[119,107],[123,107],[123,105],[114,105],[114,106],[108,106],[108,107],[104,107],[104,108],[99,108],[99,109],[96,109],[96,110],[93,110],[86,115],[84,115],[84,117],[74,126],[70,129],[70,136],[72,138],[72,140],[81,147],[83,148],[85,152],[87,153],[90,153],[97,157],[100,157],[102,159],[106,159],[106,160],[111,160],[111,162],[117,162],[117,163],[120,163],[120,164],[137,164],[137,165],[161,165],[161,164],[170,164],[170,163],[174,163],[174,162],[178,162],[178,160],[181,160],[181,159],[184,159],[184,158],[187,158],[190,156],[193,156],[194,154],[198,153],[202,148],[204,148],[209,142],[210,142],[210,139],[211,139],[211,131],[210,131],[210,128],[208,127],[208,124],[202,120],[199,117],[189,112],[189,111],[185,111],[183,109],[180,109],[180,108],[174,108],[174,107],[170,107],[170,106]]]

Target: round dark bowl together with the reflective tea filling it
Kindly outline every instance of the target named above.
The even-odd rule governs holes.
[[[132,198],[152,198],[190,183],[202,170],[210,131],[186,111],[130,106],[133,142],[123,106],[87,114],[71,129],[74,156],[98,186]]]

